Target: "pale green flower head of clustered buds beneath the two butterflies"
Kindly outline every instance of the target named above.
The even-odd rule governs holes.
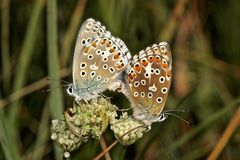
[[[70,156],[69,152],[90,138],[99,140],[108,124],[123,145],[134,143],[148,130],[142,121],[128,116],[127,112],[117,117],[117,107],[104,98],[75,102],[60,119],[52,120],[51,139],[65,151],[64,155]]]

